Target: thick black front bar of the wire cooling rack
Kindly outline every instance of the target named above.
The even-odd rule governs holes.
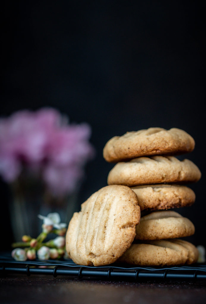
[[[0,274],[8,275],[9,273],[30,275],[53,275],[54,277],[61,276],[72,276],[79,279],[83,277],[98,277],[102,279],[132,279],[132,280],[206,280],[205,271],[174,271],[173,268],[170,270],[157,269],[156,271],[145,271],[141,268],[138,269],[128,269],[124,268],[122,271],[120,269],[99,269],[99,268],[86,268],[84,266],[79,266],[78,268],[62,268],[62,266],[54,266],[54,268],[39,268],[36,266],[26,265],[26,266],[11,266],[11,265],[1,265]]]

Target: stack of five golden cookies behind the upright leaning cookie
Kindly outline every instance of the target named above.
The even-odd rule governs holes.
[[[197,261],[195,246],[179,239],[194,234],[193,223],[177,212],[166,211],[195,201],[194,192],[185,184],[197,182],[201,172],[192,161],[173,156],[191,152],[194,145],[189,134],[176,128],[128,132],[106,143],[104,158],[117,162],[108,184],[131,187],[141,210],[135,242],[118,261],[141,266]]]

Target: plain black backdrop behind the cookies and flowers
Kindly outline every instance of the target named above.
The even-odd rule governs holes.
[[[51,106],[92,127],[96,158],[79,205],[106,185],[112,136],[159,126],[187,131],[202,171],[187,238],[206,245],[205,5],[193,1],[3,2],[1,115]],[[9,189],[1,181],[2,244],[9,248]],[[77,209],[79,210],[79,205]],[[5,222],[4,222],[5,220]]]

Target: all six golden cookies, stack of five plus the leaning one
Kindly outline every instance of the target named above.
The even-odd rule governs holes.
[[[183,265],[197,261],[194,245],[180,240],[194,225],[166,210],[190,206],[197,166],[173,155],[191,152],[193,138],[179,129],[150,128],[113,137],[103,156],[117,162],[108,186],[93,193],[75,212],[66,234],[66,250],[77,264],[115,261],[140,266]]]

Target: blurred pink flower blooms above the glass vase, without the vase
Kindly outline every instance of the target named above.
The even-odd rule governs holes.
[[[0,174],[11,183],[23,172],[40,174],[55,195],[72,193],[94,156],[86,123],[69,125],[55,109],[23,110],[0,119]]]

